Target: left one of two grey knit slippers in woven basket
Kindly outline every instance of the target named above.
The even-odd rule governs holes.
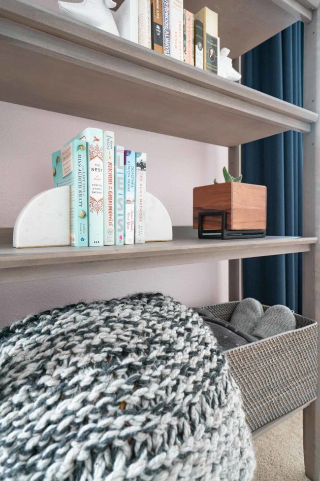
[[[263,316],[261,303],[248,297],[239,302],[231,316],[230,323],[247,334],[252,334]]]

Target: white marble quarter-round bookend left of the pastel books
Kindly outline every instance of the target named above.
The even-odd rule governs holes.
[[[70,186],[44,190],[20,212],[13,229],[13,247],[69,246]]]

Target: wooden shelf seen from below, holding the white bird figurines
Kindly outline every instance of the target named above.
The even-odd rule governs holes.
[[[26,1],[0,0],[0,17],[6,102],[228,147],[318,118]]]

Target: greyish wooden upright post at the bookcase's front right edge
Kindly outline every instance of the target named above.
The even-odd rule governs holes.
[[[319,10],[314,11],[312,22],[305,25],[304,106],[320,112]],[[304,135],[303,175],[303,234],[320,237],[320,122],[312,124],[311,132]],[[309,253],[304,254],[303,314],[320,321],[320,243],[315,244]],[[312,481],[320,480],[319,396],[318,384],[317,400],[306,407],[303,412],[305,471]]]

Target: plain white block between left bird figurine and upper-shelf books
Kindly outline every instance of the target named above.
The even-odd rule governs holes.
[[[125,0],[112,14],[120,37],[138,43],[138,0]]]

